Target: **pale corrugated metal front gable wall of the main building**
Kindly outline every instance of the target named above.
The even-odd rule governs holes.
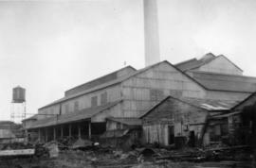
[[[158,100],[152,100],[151,91],[163,92]],[[184,76],[167,62],[130,78],[122,83],[123,117],[138,117],[159,100],[179,91],[183,96],[203,98],[205,90]]]

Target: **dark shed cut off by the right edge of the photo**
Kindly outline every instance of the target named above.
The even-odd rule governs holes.
[[[212,126],[219,129],[219,136],[213,136],[215,141],[230,145],[254,144],[256,141],[256,92],[229,110],[229,113],[219,113],[211,116],[208,132],[213,132]]]

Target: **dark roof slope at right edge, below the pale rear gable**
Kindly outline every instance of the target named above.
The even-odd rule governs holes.
[[[213,91],[255,92],[256,77],[190,71],[192,78]]]

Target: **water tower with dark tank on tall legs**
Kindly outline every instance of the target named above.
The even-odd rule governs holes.
[[[26,118],[26,90],[20,86],[12,89],[10,119],[21,123]]]

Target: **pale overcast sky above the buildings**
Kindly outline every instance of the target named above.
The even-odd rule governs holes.
[[[157,0],[160,57],[176,63],[223,54],[256,76],[255,0]],[[11,90],[27,112],[123,67],[144,66],[142,0],[0,1],[0,120]]]

